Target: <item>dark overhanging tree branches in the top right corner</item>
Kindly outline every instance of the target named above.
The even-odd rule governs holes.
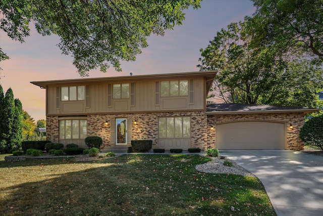
[[[248,21],[254,47],[276,44],[283,53],[297,48],[322,62],[322,0],[252,1],[256,12]]]

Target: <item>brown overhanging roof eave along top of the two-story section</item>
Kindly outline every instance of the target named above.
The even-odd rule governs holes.
[[[163,73],[163,74],[150,74],[150,75],[136,75],[136,76],[113,76],[113,77],[96,77],[96,78],[79,78],[79,79],[62,79],[62,80],[47,80],[47,81],[32,81],[30,83],[45,89],[48,85],[56,84],[81,84],[81,83],[94,83],[94,82],[113,82],[113,81],[136,81],[136,80],[151,80],[151,79],[174,79],[174,78],[188,78],[188,77],[207,77],[207,80],[214,79],[217,70],[211,71],[196,71],[196,72],[183,72],[183,73]],[[209,89],[211,84],[207,86]]]

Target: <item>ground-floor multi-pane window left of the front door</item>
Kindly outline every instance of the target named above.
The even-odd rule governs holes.
[[[78,140],[85,139],[87,134],[86,119],[64,119],[60,120],[60,139]]]

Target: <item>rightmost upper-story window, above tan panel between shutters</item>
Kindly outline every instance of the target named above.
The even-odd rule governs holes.
[[[188,96],[188,80],[160,81],[161,97]]]

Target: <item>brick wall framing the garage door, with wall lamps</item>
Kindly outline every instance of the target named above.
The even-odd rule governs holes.
[[[216,129],[217,123],[231,122],[231,121],[244,121],[244,120],[263,120],[263,121],[279,121],[286,122],[287,150],[303,150],[304,144],[299,138],[300,128],[304,124],[303,113],[267,113],[267,114],[227,114],[227,115],[208,115],[208,140],[207,147],[216,147]],[[292,124],[293,128],[290,129],[289,125]],[[214,126],[214,130],[209,128]]]

